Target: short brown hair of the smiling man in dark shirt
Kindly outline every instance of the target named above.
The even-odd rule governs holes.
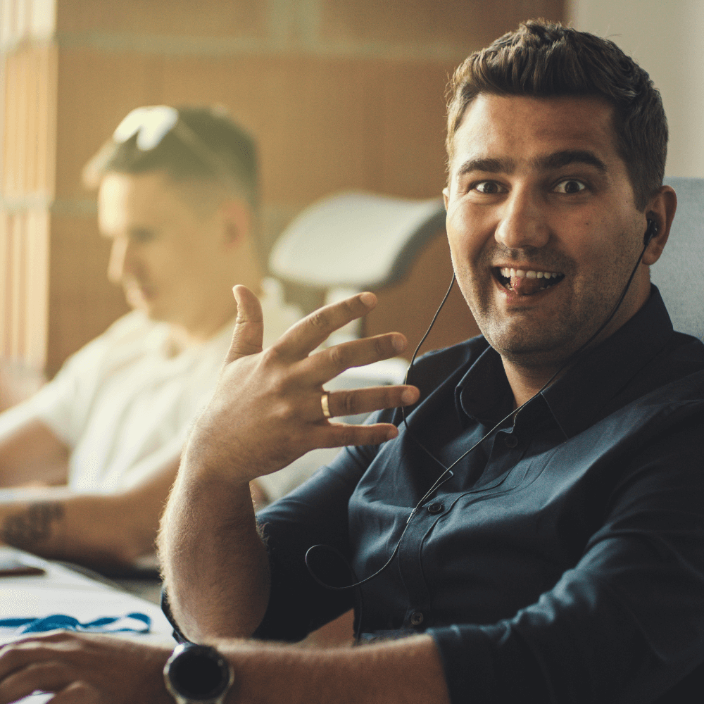
[[[529,20],[468,56],[448,85],[448,160],[465,109],[479,94],[604,99],[613,107],[616,148],[636,207],[645,208],[662,186],[667,119],[660,92],[648,73],[608,39]]]

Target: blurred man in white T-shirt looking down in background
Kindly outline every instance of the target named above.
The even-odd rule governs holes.
[[[0,416],[0,486],[58,485],[4,491],[0,541],[124,566],[153,553],[187,429],[230,345],[232,281],[263,296],[267,252],[256,148],[225,114],[137,108],[86,173],[112,242],[108,277],[134,310]],[[275,290],[263,304],[273,341],[297,316]]]

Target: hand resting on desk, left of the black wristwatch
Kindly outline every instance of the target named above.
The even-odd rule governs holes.
[[[0,647],[0,704],[34,691],[52,704],[173,704],[163,680],[170,648],[118,636],[51,631]]]

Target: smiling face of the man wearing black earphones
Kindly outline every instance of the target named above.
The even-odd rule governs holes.
[[[455,133],[444,196],[477,325],[528,366],[559,363],[596,332],[643,246],[646,216],[599,99],[478,96]],[[641,269],[615,323],[647,296]]]

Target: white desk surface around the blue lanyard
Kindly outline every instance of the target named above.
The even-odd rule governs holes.
[[[0,548],[0,555],[13,548]],[[88,622],[103,616],[124,616],[131,612],[141,612],[151,618],[148,634],[124,634],[142,643],[160,643],[173,647],[171,624],[161,609],[149,601],[89,577],[57,565],[49,560],[19,553],[22,559],[46,570],[46,574],[36,577],[0,577],[0,619],[41,618],[53,614],[73,616],[80,622]],[[3,632],[5,631],[5,632]],[[114,637],[122,637],[115,634]],[[13,640],[6,629],[0,629],[0,645]],[[23,704],[40,704],[51,696],[42,694],[27,697]]]

